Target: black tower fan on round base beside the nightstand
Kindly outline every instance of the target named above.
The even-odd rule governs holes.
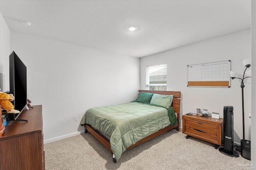
[[[219,151],[231,157],[238,157],[239,154],[234,150],[234,113],[233,106],[224,106],[223,115],[223,148]]]

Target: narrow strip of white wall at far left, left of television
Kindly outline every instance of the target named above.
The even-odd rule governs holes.
[[[0,12],[0,73],[3,74],[3,89],[9,87],[10,30]]]

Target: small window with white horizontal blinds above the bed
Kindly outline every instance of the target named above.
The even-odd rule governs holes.
[[[147,90],[167,90],[167,64],[146,66]]]

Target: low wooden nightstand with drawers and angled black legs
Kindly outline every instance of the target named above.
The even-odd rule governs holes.
[[[193,136],[211,142],[217,149],[223,141],[223,119],[182,115],[182,133],[187,134],[186,138]]]

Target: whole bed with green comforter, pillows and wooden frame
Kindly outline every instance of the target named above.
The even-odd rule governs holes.
[[[139,90],[135,101],[88,109],[80,125],[112,153],[121,154],[176,128],[179,131],[180,91]]]

